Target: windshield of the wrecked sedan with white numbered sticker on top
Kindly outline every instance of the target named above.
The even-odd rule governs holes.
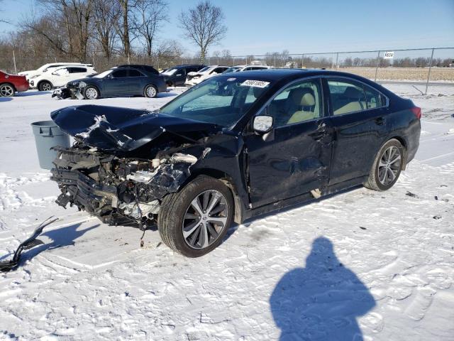
[[[162,114],[231,126],[270,88],[270,82],[245,77],[210,78],[160,109]]]

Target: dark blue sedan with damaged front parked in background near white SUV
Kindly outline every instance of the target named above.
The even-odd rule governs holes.
[[[156,97],[159,92],[167,92],[162,76],[131,67],[114,67],[99,75],[68,82],[66,88],[55,90],[52,97]]]

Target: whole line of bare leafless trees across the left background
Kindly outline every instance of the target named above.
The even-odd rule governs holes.
[[[166,0],[38,0],[37,5],[16,31],[0,38],[0,68],[13,69],[13,53],[18,71],[55,61],[93,63],[98,70],[118,63],[160,68],[203,63],[227,31],[221,8],[209,1],[177,18],[169,17]],[[172,19],[182,36],[199,48],[195,56],[185,56],[177,39],[162,38]]]

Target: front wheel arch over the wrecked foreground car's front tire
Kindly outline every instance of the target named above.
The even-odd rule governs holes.
[[[233,221],[236,222],[237,224],[243,222],[243,217],[245,216],[244,215],[245,207],[243,205],[243,201],[241,200],[240,195],[238,194],[238,189],[236,187],[235,181],[233,180],[231,175],[228,175],[227,173],[219,171],[218,169],[214,168],[198,168],[191,172],[191,175],[182,184],[182,187],[184,187],[187,183],[194,180],[194,178],[196,178],[199,175],[207,175],[210,176],[211,178],[221,180],[224,183],[224,185],[226,185],[227,188],[231,190],[231,193],[233,195],[233,203],[235,206],[233,212]]]

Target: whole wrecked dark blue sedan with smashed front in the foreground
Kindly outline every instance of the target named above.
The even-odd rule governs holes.
[[[190,257],[221,244],[233,221],[391,188],[421,131],[411,100],[323,70],[223,74],[155,112],[89,105],[51,117],[77,141],[58,149],[57,203],[111,224],[156,220],[162,241]]]

